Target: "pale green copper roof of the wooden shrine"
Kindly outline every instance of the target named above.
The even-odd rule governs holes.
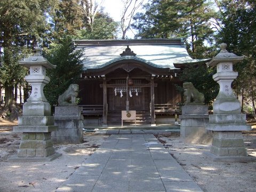
[[[74,41],[77,49],[84,48],[83,63],[86,69],[102,68],[121,60],[137,60],[156,68],[175,69],[173,63],[193,63],[182,38],[130,39],[130,40],[80,40]],[[136,56],[123,56],[127,46]]]

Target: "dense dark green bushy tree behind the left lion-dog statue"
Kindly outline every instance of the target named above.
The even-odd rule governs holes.
[[[45,51],[45,57],[56,68],[47,71],[51,81],[45,86],[44,93],[51,105],[57,105],[59,95],[67,90],[70,84],[77,83],[83,71],[83,50],[75,49],[70,35],[52,43],[50,48]]]

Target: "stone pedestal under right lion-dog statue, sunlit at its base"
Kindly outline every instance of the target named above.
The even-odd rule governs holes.
[[[182,115],[179,116],[180,138],[185,143],[209,143],[212,141],[210,131],[205,130],[209,123],[208,107],[205,105],[182,106]]]

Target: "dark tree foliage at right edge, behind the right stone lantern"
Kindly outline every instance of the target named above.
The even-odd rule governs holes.
[[[227,49],[244,55],[243,62],[235,66],[238,78],[233,83],[243,100],[252,102],[255,116],[256,97],[256,3],[254,1],[216,1],[220,12],[221,28],[217,43],[225,42]]]

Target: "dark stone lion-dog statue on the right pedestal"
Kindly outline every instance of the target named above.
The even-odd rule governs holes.
[[[183,83],[183,89],[185,90],[184,96],[186,97],[185,105],[188,104],[203,104],[204,94],[200,93],[191,82]]]

